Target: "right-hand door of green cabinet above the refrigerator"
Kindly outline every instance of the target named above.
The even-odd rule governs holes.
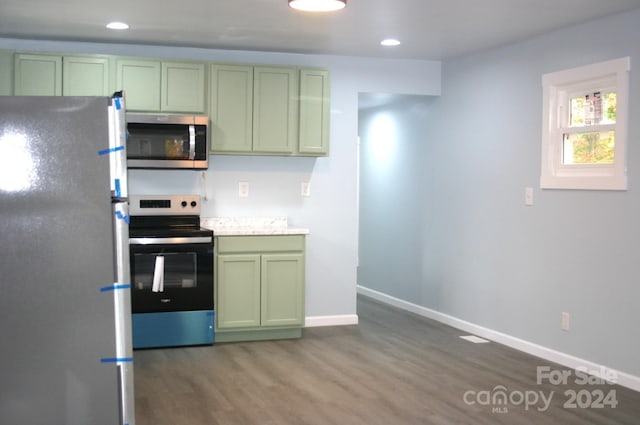
[[[63,96],[108,96],[109,59],[65,56],[62,62]]]

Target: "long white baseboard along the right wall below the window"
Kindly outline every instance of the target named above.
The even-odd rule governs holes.
[[[448,314],[440,313],[435,310],[431,310],[426,307],[419,306],[417,304],[410,303],[408,301],[401,300],[399,298],[392,297],[382,292],[375,291],[373,289],[365,288],[364,286],[357,286],[358,294],[373,298],[385,304],[398,307],[402,310],[410,311],[420,316],[427,317],[429,319],[436,320],[454,328],[460,329],[464,332],[468,332],[488,340],[498,342],[516,350],[523,351],[525,353],[543,358],[550,362],[558,363],[562,366],[566,366],[572,369],[586,368],[588,371],[602,371],[614,373],[617,377],[616,383],[630,388],[634,391],[640,391],[640,377],[634,376],[625,372],[620,372],[615,369],[611,369],[604,365],[600,365],[589,360],[580,359],[578,357],[562,353],[560,351],[553,350],[551,348],[543,347],[538,344],[534,344],[529,341],[525,341],[520,338],[513,337],[511,335],[504,334],[502,332],[488,329],[482,326],[475,325],[465,320],[458,319]]]

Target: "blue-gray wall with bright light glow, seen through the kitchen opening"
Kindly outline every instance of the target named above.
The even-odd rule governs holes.
[[[366,95],[361,96],[366,104]],[[394,96],[361,109],[358,283],[421,300],[429,107],[436,97]]]

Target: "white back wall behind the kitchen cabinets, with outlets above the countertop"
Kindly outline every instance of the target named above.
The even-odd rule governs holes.
[[[190,49],[124,44],[0,39],[0,49],[103,53],[221,62],[321,66],[331,70],[331,155],[328,158],[212,156],[205,216],[286,215],[308,227],[307,316],[356,314],[357,107],[359,92],[440,92],[440,63],[355,57]],[[238,181],[250,196],[237,196]],[[311,197],[300,182],[311,182]],[[132,193],[204,193],[201,173],[133,171]]]

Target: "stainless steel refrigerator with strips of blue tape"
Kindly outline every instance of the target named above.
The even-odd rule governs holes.
[[[0,424],[135,423],[125,124],[0,96]]]

